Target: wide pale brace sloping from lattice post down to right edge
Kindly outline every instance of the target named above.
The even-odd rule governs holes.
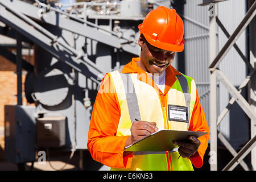
[[[251,106],[248,104],[248,102],[243,98],[243,96],[238,92],[238,90],[232,85],[232,83],[226,78],[224,73],[222,73],[220,70],[216,69],[214,72],[217,73],[217,78],[222,82],[222,84],[225,86],[225,88],[228,90],[230,95],[234,97],[237,104],[240,105],[242,110],[247,114],[249,118],[254,121],[256,121],[256,113],[251,108]],[[255,123],[256,125],[256,123]]]

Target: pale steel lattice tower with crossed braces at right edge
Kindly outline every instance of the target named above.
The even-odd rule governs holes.
[[[236,101],[238,105],[242,108],[242,110],[246,113],[246,115],[251,119],[251,130],[253,128],[255,129],[256,126],[256,112],[255,109],[253,109],[253,106],[255,108],[255,100],[251,102],[251,105],[243,98],[241,95],[241,91],[243,88],[249,84],[249,82],[254,83],[255,80],[252,80],[255,78],[255,47],[254,47],[254,57],[249,60],[246,59],[246,57],[242,54],[238,46],[236,45],[237,39],[240,37],[242,32],[245,30],[245,28],[249,25],[251,20],[255,17],[256,14],[256,1],[251,5],[250,9],[247,11],[245,17],[242,19],[241,23],[238,25],[236,30],[233,32],[232,35],[228,34],[228,31],[226,31],[224,25],[220,22],[220,20],[217,18],[217,16],[210,17],[210,151],[216,152],[216,163],[210,164],[211,170],[217,170],[217,137],[221,140],[222,143],[224,143],[225,147],[230,151],[230,153],[234,156],[234,158],[224,167],[223,170],[233,170],[236,168],[238,164],[241,164],[243,169],[250,170],[249,167],[246,165],[245,162],[243,162],[243,158],[253,148],[256,146],[256,135],[255,132],[251,133],[251,139],[249,142],[245,144],[245,146],[237,153],[234,148],[230,145],[228,140],[225,139],[225,137],[218,131],[217,131],[217,125],[221,122],[221,120],[224,118],[225,114],[228,113],[230,110],[230,107],[234,104]],[[225,43],[224,47],[218,52],[218,54],[214,56],[214,51],[216,51],[216,42],[213,38],[213,31],[216,29],[216,25],[220,26],[221,30],[224,31],[224,34],[228,37],[228,41]],[[255,29],[254,29],[255,30]],[[254,39],[255,40],[255,35]],[[255,43],[254,43],[255,44]],[[234,46],[238,54],[242,57],[242,60],[245,61],[245,64],[247,65],[247,68],[249,70],[249,75],[245,78],[245,80],[242,82],[241,86],[238,88],[238,90],[232,85],[232,83],[226,78],[223,72],[218,69],[218,65],[220,65],[221,61],[224,59],[225,55],[228,53],[228,51]],[[250,56],[251,57],[251,56]],[[253,64],[252,64],[253,63]],[[216,90],[216,80],[220,81],[225,88],[228,90],[232,98],[230,99],[228,105],[224,110],[221,111],[221,114],[217,118],[217,90]],[[254,85],[255,86],[255,85]],[[255,88],[254,88],[255,89]],[[254,93],[255,94],[255,93]],[[254,97],[255,98],[255,97]],[[218,133],[218,134],[217,134]],[[255,151],[254,151],[255,152]],[[252,164],[253,169],[255,169],[254,163],[255,156],[252,158]]]

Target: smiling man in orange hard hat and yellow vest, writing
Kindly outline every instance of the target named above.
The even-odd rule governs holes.
[[[92,158],[112,170],[193,170],[203,165],[209,127],[195,81],[170,64],[184,49],[184,26],[174,9],[160,6],[139,25],[141,57],[101,82],[89,127]],[[184,110],[176,119],[175,109]],[[175,141],[176,152],[123,150],[159,129],[206,131],[190,142]],[[179,158],[180,156],[180,158]],[[192,166],[193,164],[193,166]]]

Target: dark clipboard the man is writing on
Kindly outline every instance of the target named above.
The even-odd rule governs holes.
[[[137,142],[134,142],[130,146],[125,147],[126,152],[135,152],[135,151],[171,151],[177,145],[174,145],[172,141],[175,140],[187,140],[188,136],[193,135],[196,138],[199,138],[207,132],[203,131],[177,131],[177,130],[159,130],[155,133],[144,137]]]

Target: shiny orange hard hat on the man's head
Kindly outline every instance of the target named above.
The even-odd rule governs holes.
[[[184,49],[184,24],[175,9],[159,6],[150,11],[139,31],[152,46],[174,52]]]

